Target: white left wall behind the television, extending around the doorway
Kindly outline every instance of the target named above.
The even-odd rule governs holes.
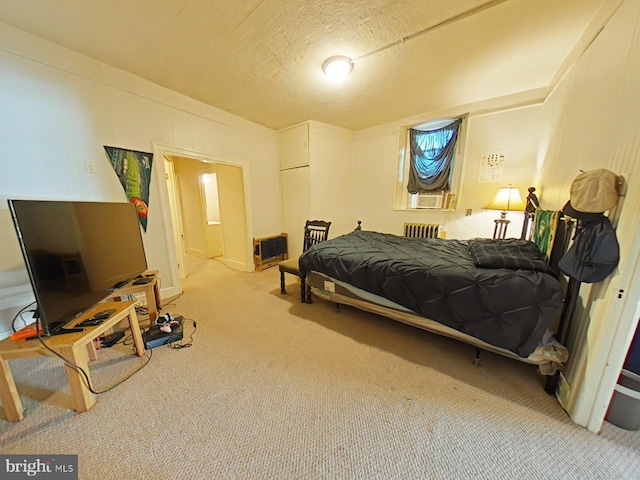
[[[29,290],[6,199],[126,201],[103,145],[153,152],[156,142],[248,162],[253,234],[280,231],[274,131],[0,23],[0,336]],[[154,158],[144,242],[166,295],[177,292],[161,195],[164,165]]]

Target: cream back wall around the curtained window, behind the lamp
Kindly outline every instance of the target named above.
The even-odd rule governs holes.
[[[423,121],[438,118],[435,115],[438,114],[430,118],[425,116]],[[474,115],[471,112],[462,159],[461,189],[454,212],[393,210],[400,125],[394,123],[358,131],[354,149],[354,218],[363,220],[365,230],[398,235],[402,234],[404,222],[424,222],[445,225],[447,238],[491,237],[493,220],[500,213],[482,210],[481,207],[493,199],[501,186],[512,184],[519,187],[523,200],[528,187],[539,188],[533,182],[539,141],[545,126],[541,104],[513,108],[502,106],[491,114]],[[503,180],[480,182],[481,155],[497,150],[505,151],[507,155]],[[470,216],[465,215],[467,209],[472,210]],[[507,236],[519,237],[523,214],[512,212],[507,218],[512,221]]]

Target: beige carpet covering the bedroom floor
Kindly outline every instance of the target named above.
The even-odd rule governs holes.
[[[534,366],[316,299],[288,276],[192,262],[183,315],[193,347],[67,409],[54,358],[11,361],[25,418],[0,419],[3,454],[79,455],[81,479],[638,478],[640,433],[578,427]],[[92,365],[105,389],[144,360]]]

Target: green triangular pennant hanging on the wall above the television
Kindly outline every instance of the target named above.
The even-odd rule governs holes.
[[[104,149],[107,151],[109,162],[124,188],[127,199],[136,206],[138,219],[146,232],[153,154],[106,145]]]

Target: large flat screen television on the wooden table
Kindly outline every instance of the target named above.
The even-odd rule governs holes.
[[[147,270],[132,203],[8,200],[43,335]]]

